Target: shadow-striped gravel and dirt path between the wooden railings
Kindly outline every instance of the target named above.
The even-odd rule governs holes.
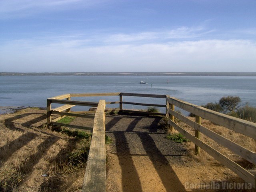
[[[229,170],[195,162],[183,144],[167,140],[160,117],[106,116],[108,192],[216,191]],[[200,189],[200,184],[206,184]]]

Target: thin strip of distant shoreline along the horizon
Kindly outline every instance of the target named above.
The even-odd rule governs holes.
[[[0,72],[0,76],[256,76],[256,72]]]

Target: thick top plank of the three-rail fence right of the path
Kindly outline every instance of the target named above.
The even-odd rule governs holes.
[[[218,113],[173,97],[168,98],[168,102],[197,116],[224,126],[230,130],[256,139],[256,123]]]

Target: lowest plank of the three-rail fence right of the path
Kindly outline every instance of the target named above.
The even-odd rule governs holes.
[[[216,151],[211,146],[207,145],[206,143],[202,142],[180,126],[178,126],[176,123],[169,120],[169,124],[171,126],[174,126],[178,132],[186,136],[190,141],[192,141],[194,144],[202,148],[202,150],[206,151],[209,155],[211,155],[213,158],[218,160],[221,164],[228,167],[230,170],[232,170],[234,173],[236,173],[240,178],[242,178],[245,182],[251,183],[252,186],[256,185],[256,176],[242,168],[240,165],[236,164],[234,161],[230,160],[220,152]]]

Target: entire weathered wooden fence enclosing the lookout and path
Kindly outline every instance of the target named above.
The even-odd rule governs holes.
[[[84,102],[84,101],[75,101],[71,100],[72,97],[96,97],[96,96],[117,96],[119,97],[118,101],[111,101],[111,102]],[[124,101],[124,97],[126,96],[133,96],[133,97],[148,97],[148,98],[162,98],[165,99],[166,104],[146,104],[146,103],[136,103],[136,102],[126,102]],[[62,104],[57,108],[52,109],[52,103]],[[118,109],[111,109],[105,110],[106,104],[119,104]],[[155,107],[163,107],[166,109],[166,113],[150,113],[150,112],[140,112],[134,110],[127,110],[123,108],[123,104],[130,104],[130,105],[140,105],[140,106],[155,106]],[[96,111],[79,111],[79,112],[71,112],[71,108],[73,106],[91,106],[91,107],[98,107]],[[104,107],[103,107],[104,106]],[[187,112],[193,113],[196,115],[195,122],[190,120],[189,118],[179,114],[174,110],[175,106],[186,110]],[[256,153],[252,152],[235,142],[224,138],[220,134],[213,132],[212,130],[204,127],[201,125],[201,118],[210,120],[216,124],[224,126],[230,130],[238,132],[240,134],[244,134],[252,139],[256,139],[256,124],[252,122],[248,122],[246,120],[241,120],[239,118],[234,118],[225,114],[221,114],[218,112],[214,112],[212,110],[208,110],[201,106],[197,106],[194,104],[190,104],[188,102],[184,102],[177,98],[173,98],[167,95],[157,95],[157,94],[137,94],[137,93],[90,93],[90,94],[64,94],[61,96],[56,96],[47,99],[47,124],[57,124],[62,126],[68,126],[71,128],[79,128],[93,131],[92,135],[92,143],[90,152],[92,150],[92,154],[89,154],[88,157],[88,169],[97,170],[97,168],[101,167],[103,169],[97,170],[100,174],[94,174],[94,172],[90,172],[86,168],[86,174],[84,178],[83,184],[83,191],[105,191],[106,190],[106,172],[104,173],[103,170],[105,169],[105,141],[103,142],[103,138],[105,140],[105,125],[104,125],[104,112],[111,112],[111,111],[124,111],[124,112],[137,112],[137,113],[144,113],[144,114],[154,114],[154,115],[162,115],[167,116],[169,118],[169,124],[172,129],[178,130],[182,133],[186,138],[188,138],[191,142],[195,144],[195,154],[200,153],[200,148],[206,151],[208,154],[213,156],[216,160],[218,160],[221,164],[225,165],[226,167],[230,168],[233,172],[235,172],[240,178],[242,178],[245,182],[251,183],[254,188],[256,188],[256,176],[252,173],[248,172],[248,170],[242,168],[236,162],[230,160],[228,157],[224,156],[208,144],[204,143],[200,140],[201,133],[205,136],[208,136],[215,142],[218,142],[220,145],[228,148],[235,154],[241,156],[242,158],[248,160],[249,162],[256,165]],[[93,116],[95,114],[95,116]],[[52,117],[55,116],[55,119]],[[85,117],[85,118],[94,118],[94,127],[82,127],[82,126],[74,126],[68,125],[63,123],[58,123],[57,121],[65,116],[76,116],[76,117]],[[195,135],[190,134],[187,130],[180,127],[178,124],[174,122],[174,117],[181,120],[182,122],[188,124],[195,130]],[[100,123],[99,123],[100,122]],[[102,123],[103,122],[103,123]],[[96,126],[96,127],[95,127]],[[97,128],[98,127],[98,128]],[[95,136],[94,136],[95,134]],[[103,137],[104,135],[104,137]],[[100,140],[98,140],[100,138]],[[95,140],[96,142],[94,142]],[[93,150],[93,148],[97,148],[100,146],[101,150]],[[104,151],[104,152],[103,152]],[[99,156],[98,156],[99,155]],[[101,157],[99,160],[98,157]],[[96,165],[98,164],[98,165]],[[90,166],[95,166],[94,168],[90,168]],[[96,173],[95,172],[95,173]],[[94,181],[92,182],[92,178]],[[91,187],[86,183],[94,183]],[[103,188],[98,188],[102,186]]]

